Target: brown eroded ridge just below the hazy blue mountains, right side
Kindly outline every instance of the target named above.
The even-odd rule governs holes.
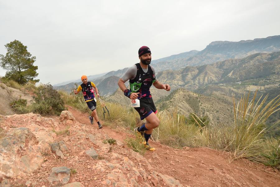
[[[280,80],[280,52],[253,54],[241,59],[228,59],[214,64],[158,72],[161,82],[193,90],[199,86],[240,82],[256,78]]]

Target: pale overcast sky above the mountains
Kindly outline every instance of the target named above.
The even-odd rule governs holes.
[[[130,67],[143,45],[158,59],[280,35],[279,10],[278,0],[0,0],[0,54],[20,40],[36,56],[40,82],[56,84]]]

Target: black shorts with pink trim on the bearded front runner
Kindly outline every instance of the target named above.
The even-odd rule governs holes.
[[[157,113],[156,106],[152,98],[141,98],[140,107],[134,108],[140,115],[140,119],[145,119],[148,115],[154,112]]]

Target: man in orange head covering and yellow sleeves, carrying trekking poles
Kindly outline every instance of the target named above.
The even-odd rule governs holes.
[[[77,95],[82,90],[86,104],[88,108],[90,108],[92,111],[91,116],[89,116],[89,119],[91,120],[91,124],[93,124],[93,118],[94,118],[97,121],[99,129],[101,129],[102,125],[99,122],[99,118],[95,110],[96,98],[93,91],[94,88],[97,97],[99,97],[98,89],[93,82],[87,82],[87,77],[85,75],[83,75],[81,79],[83,83],[78,87],[77,90],[74,90],[74,93]]]

